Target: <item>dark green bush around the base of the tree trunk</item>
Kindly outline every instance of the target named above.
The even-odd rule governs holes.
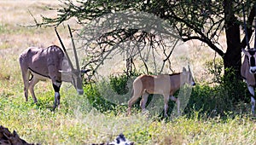
[[[212,64],[207,63],[208,67]],[[210,73],[217,75],[212,81],[218,82],[218,84],[214,84],[212,87],[207,84],[197,85],[193,88],[186,113],[201,111],[207,116],[225,116],[227,113],[248,111],[245,103],[250,102],[247,84],[234,77],[233,69],[226,70],[225,76],[220,75],[220,67],[221,65],[218,64],[215,66],[217,71],[209,68]]]

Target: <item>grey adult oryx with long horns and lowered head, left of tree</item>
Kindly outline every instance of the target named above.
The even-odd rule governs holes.
[[[73,37],[69,26],[68,29],[73,43]],[[55,32],[61,42],[61,38],[56,29]],[[79,68],[79,60],[74,44],[73,51],[77,68],[73,67],[72,61],[70,61],[62,42],[61,45],[64,51],[56,45],[51,45],[44,49],[29,47],[21,53],[19,61],[26,101],[28,90],[30,90],[34,102],[38,102],[34,93],[34,86],[39,80],[45,80],[47,78],[51,79],[55,90],[54,109],[60,105],[61,96],[59,91],[62,81],[72,83],[79,95],[83,95],[84,90],[82,87],[81,72],[86,73],[86,71],[81,71]],[[32,75],[31,79],[29,79],[30,75]]]

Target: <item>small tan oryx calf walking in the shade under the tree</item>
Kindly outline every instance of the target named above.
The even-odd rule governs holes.
[[[180,102],[179,99],[173,95],[181,86],[183,86],[183,84],[186,83],[195,85],[190,68],[189,71],[187,71],[184,67],[182,73],[160,75],[143,74],[137,77],[133,82],[132,97],[128,102],[128,114],[131,113],[133,103],[136,102],[140,96],[143,96],[140,106],[142,107],[142,110],[144,110],[149,94],[160,94],[164,96],[165,117],[167,116],[168,102],[171,96],[171,100],[177,103],[177,114],[179,114]]]

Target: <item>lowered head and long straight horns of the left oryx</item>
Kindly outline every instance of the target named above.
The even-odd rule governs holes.
[[[70,60],[69,55],[67,54],[67,50],[65,49],[65,46],[62,43],[61,38],[60,38],[58,32],[56,31],[56,28],[55,28],[55,32],[57,34],[57,37],[59,38],[62,49],[63,49],[63,51],[66,55],[67,66],[68,66],[68,69],[61,69],[59,72],[61,73],[61,77],[63,79],[67,79],[69,82],[71,82],[73,84],[74,88],[77,90],[79,95],[83,95],[84,90],[83,90],[83,85],[82,85],[81,73],[84,72],[84,70],[82,70],[82,71],[80,70],[79,59],[78,59],[77,51],[75,49],[75,45],[74,45],[74,42],[73,42],[73,35],[72,35],[71,29],[70,29],[69,26],[68,26],[68,30],[69,30],[70,37],[71,37],[72,44],[73,44],[73,53],[74,53],[75,61],[76,61],[76,68],[73,67],[73,63]],[[65,61],[62,64],[62,68],[63,67],[65,67]]]

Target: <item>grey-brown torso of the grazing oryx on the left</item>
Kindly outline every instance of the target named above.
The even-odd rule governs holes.
[[[56,45],[48,48],[30,47],[20,55],[20,67],[22,72],[29,71],[33,77],[39,80],[46,78],[54,78],[56,81],[61,81],[62,61],[64,53]]]

